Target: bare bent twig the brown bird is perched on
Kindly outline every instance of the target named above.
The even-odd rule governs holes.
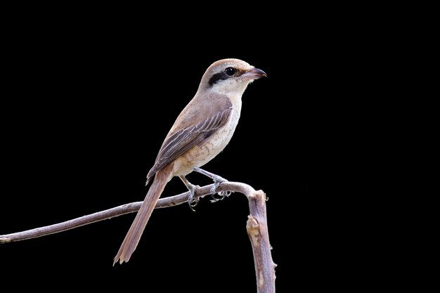
[[[212,186],[213,184],[197,188],[195,190],[194,197],[198,198],[209,195]],[[245,183],[230,181],[221,183],[216,190],[218,192],[231,191],[242,193],[246,195],[247,199],[249,200],[250,216],[248,216],[249,219],[247,220],[246,228],[251,240],[252,251],[254,252],[255,271],[257,274],[257,293],[274,293],[276,264],[272,261],[271,245],[268,241],[265,203],[266,197],[264,193],[261,190],[255,191],[254,188]],[[180,195],[174,195],[172,197],[161,198],[157,202],[156,208],[173,207],[178,204],[187,203],[188,195],[189,193],[187,192],[181,193]],[[46,236],[105,219],[111,219],[115,216],[129,214],[138,211],[138,209],[141,207],[141,204],[142,202],[132,202],[62,223],[56,223],[50,226],[34,228],[17,233],[0,235],[0,244]]]

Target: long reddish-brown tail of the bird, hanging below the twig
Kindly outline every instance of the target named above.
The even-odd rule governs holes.
[[[124,238],[124,242],[122,242],[115,259],[113,259],[113,266],[115,266],[117,261],[119,261],[121,264],[124,261],[129,261],[131,254],[133,254],[139,240],[141,240],[143,230],[147,225],[148,219],[150,219],[151,213],[153,213],[153,209],[155,209],[157,200],[159,200],[165,185],[167,185],[170,179],[169,174],[169,168],[167,167],[157,171],[155,174],[155,178],[150,186],[150,189],[148,190],[147,195],[145,196],[145,200],[143,200],[141,208],[139,209],[138,214],[136,214],[136,218],[134,219],[129,232]]]

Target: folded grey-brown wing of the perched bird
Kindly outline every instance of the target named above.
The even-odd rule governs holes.
[[[194,145],[203,145],[221,126],[224,126],[231,115],[232,107],[216,112],[215,115],[202,119],[202,121],[181,129],[165,138],[153,168],[148,172],[147,178],[152,177],[157,171],[165,167],[174,159],[192,148]]]

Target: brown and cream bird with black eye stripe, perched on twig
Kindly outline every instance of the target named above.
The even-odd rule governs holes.
[[[114,263],[129,261],[138,245],[150,215],[162,191],[174,176],[179,176],[190,190],[188,203],[193,200],[195,185],[185,176],[192,171],[205,174],[214,180],[212,195],[219,183],[226,181],[200,169],[223,150],[231,141],[238,124],[241,96],[248,84],[265,77],[266,73],[245,61],[223,59],[208,67],[193,100],[182,110],[162,143],[155,164],[147,175],[147,184],[154,176],[136,218],[117,252]]]

